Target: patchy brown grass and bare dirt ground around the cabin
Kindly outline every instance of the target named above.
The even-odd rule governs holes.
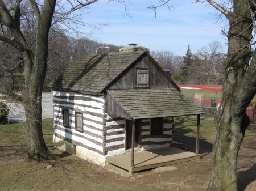
[[[22,125],[0,126],[0,190],[203,191],[208,186],[213,143],[209,128],[201,130],[203,136],[200,137],[201,159],[167,167],[172,171],[150,170],[125,177],[53,148],[52,120],[43,122],[47,146],[58,156],[57,160],[44,163],[26,162],[26,143]],[[183,137],[185,147],[193,151],[195,149],[193,128],[181,124],[176,126],[185,128],[185,130],[176,129],[177,138]],[[238,185],[241,191],[256,190],[255,140],[256,128],[251,126],[246,131],[238,156]]]

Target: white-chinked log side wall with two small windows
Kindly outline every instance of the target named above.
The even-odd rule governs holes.
[[[104,96],[53,92],[55,136],[104,155]],[[70,128],[63,126],[62,109],[69,111]],[[82,113],[83,132],[75,129],[75,112]]]

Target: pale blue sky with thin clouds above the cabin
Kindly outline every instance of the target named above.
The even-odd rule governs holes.
[[[191,0],[172,0],[171,11],[167,6],[156,10],[147,6],[159,5],[159,0],[126,1],[129,14],[125,14],[125,5],[116,1],[102,0],[89,6],[83,16],[86,23],[108,23],[98,26],[90,39],[102,43],[128,46],[138,43],[153,50],[168,50],[175,55],[185,56],[188,44],[192,53],[213,41],[223,45],[226,52],[226,39],[221,35],[225,23],[217,22],[218,13],[206,3],[192,3]],[[84,26],[81,32],[90,33],[92,28]]]

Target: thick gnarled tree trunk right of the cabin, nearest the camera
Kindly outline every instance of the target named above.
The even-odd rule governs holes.
[[[230,190],[237,188],[237,156],[245,130],[250,124],[246,107],[255,95],[255,63],[249,48],[251,16],[247,1],[233,1],[234,12],[230,12],[229,48],[226,60],[222,104],[215,119],[216,141],[213,145],[213,169],[209,190]],[[254,61],[254,60],[253,60]],[[254,70],[254,71],[253,71]]]

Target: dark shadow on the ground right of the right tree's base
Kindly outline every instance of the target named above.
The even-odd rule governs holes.
[[[246,187],[253,181],[256,180],[256,163],[246,171],[241,171],[237,173],[238,178],[238,190],[245,191]],[[250,176],[248,176],[250,175]]]

